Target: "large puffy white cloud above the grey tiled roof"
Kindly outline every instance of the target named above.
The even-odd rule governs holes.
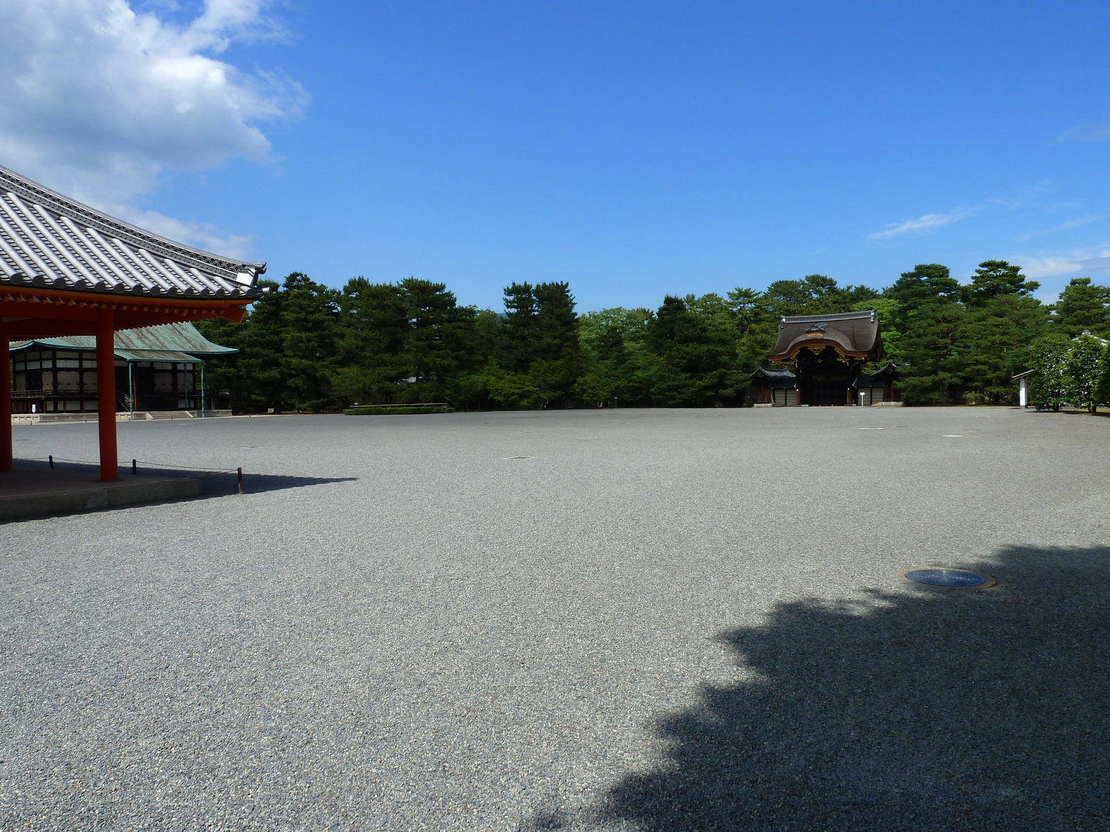
[[[0,0],[0,164],[178,240],[243,250],[242,237],[129,205],[165,171],[270,156],[259,123],[295,116],[303,89],[214,57],[280,37],[265,6],[206,0],[179,23],[127,0]]]

